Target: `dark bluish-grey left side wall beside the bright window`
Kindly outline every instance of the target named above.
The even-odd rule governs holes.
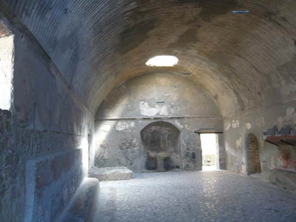
[[[10,111],[0,110],[0,221],[23,221],[28,209],[26,201],[30,199],[26,197],[29,189],[26,190],[29,175],[26,164],[49,156],[54,157],[53,179],[43,177],[48,179],[44,186],[62,185],[47,192],[41,191],[44,186],[37,186],[38,198],[46,208],[39,205],[38,217],[27,220],[46,222],[50,221],[49,211],[59,208],[55,211],[58,214],[88,173],[88,149],[92,147],[88,146],[88,137],[94,138],[94,118],[75,98],[75,93],[30,32],[21,24],[14,24],[16,19],[7,20],[14,27],[13,100]],[[61,162],[57,154],[66,158],[67,153],[75,149],[81,149],[82,155],[72,156],[71,161],[77,163],[73,171],[66,167],[66,159]],[[36,170],[42,176],[48,173],[44,168],[43,175],[41,166]],[[65,176],[59,176],[61,172]],[[66,181],[69,178],[70,183]],[[44,181],[35,181],[38,183]],[[64,186],[67,183],[74,185],[67,188]]]

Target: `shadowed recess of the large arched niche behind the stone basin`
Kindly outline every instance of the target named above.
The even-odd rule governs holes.
[[[148,151],[173,150],[173,154],[165,158],[164,166],[167,170],[180,168],[180,131],[173,124],[164,121],[148,124],[141,130],[141,141],[144,147],[144,167],[147,170],[156,168],[156,159],[149,157]]]

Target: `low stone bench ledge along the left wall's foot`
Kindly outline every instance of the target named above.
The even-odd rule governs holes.
[[[98,179],[85,178],[58,221],[92,222],[98,190]]]

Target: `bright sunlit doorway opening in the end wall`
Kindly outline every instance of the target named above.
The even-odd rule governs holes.
[[[217,137],[214,133],[200,134],[202,146],[202,170],[211,171],[217,169]]]

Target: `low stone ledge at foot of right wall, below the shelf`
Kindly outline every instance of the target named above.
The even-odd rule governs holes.
[[[283,189],[296,190],[296,171],[274,169],[270,174],[270,182]]]

